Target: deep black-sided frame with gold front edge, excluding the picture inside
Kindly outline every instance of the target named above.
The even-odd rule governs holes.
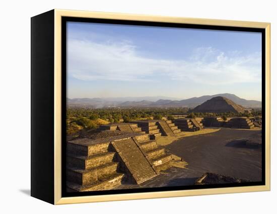
[[[222,185],[67,192],[66,23],[261,33],[262,180]],[[140,127],[140,126],[138,126]],[[110,142],[112,143],[112,141]],[[136,144],[139,145],[139,144]],[[117,153],[119,151],[116,150]],[[145,155],[146,157],[147,155]],[[127,161],[126,161],[127,162]],[[125,163],[125,162],[124,162]],[[151,163],[151,161],[150,161]],[[155,168],[155,167],[153,167]],[[74,178],[75,179],[75,178]],[[84,179],[84,178],[83,178]],[[178,197],[270,190],[270,24],[196,18],[51,10],[31,18],[31,196],[52,204]]]

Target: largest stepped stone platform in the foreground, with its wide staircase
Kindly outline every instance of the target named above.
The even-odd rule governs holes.
[[[96,133],[67,142],[67,191],[107,190],[126,181],[140,184],[171,160],[172,155],[136,124],[103,125]]]

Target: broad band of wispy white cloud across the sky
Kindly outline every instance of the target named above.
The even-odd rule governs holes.
[[[150,59],[129,41],[68,41],[68,73],[81,80],[159,81],[153,76],[203,84],[261,81],[261,56],[196,48],[186,60]]]

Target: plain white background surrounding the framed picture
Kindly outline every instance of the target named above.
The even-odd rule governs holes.
[[[275,1],[2,1],[0,28],[2,213],[276,213],[276,134],[271,123],[271,191],[87,204],[50,205],[30,192],[30,17],[51,9],[271,23],[271,119],[276,118]]]

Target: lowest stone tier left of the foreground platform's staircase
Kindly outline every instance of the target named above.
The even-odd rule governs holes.
[[[66,189],[68,192],[109,190],[119,186],[123,177],[123,173],[114,173],[103,177],[90,185],[78,185],[76,183],[67,182]]]

